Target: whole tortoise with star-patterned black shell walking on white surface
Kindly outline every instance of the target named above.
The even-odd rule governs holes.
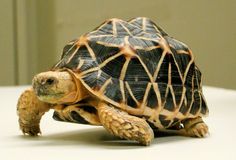
[[[49,71],[22,93],[20,129],[36,136],[49,109],[59,121],[102,125],[149,145],[154,131],[205,137],[202,74],[188,46],[152,20],[113,18],[70,41]]]

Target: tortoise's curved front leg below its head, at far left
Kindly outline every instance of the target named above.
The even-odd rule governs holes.
[[[32,88],[24,91],[17,104],[17,114],[22,132],[31,136],[41,133],[40,120],[50,108],[50,104],[37,98]]]

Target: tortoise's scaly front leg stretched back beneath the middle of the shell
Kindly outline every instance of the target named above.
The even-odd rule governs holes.
[[[154,138],[153,130],[144,119],[131,116],[106,103],[98,105],[98,115],[102,125],[116,136],[136,140],[143,145],[149,145]]]

